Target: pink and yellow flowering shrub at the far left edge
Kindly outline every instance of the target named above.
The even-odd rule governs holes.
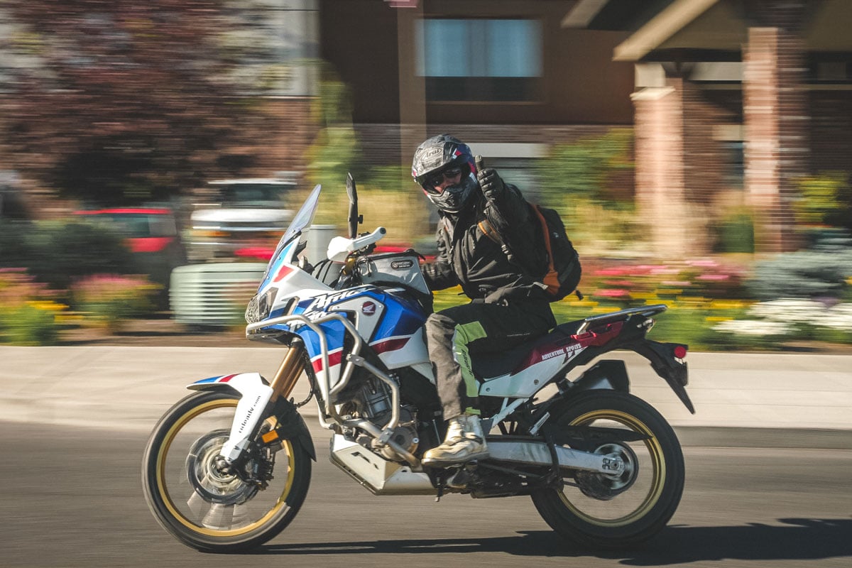
[[[51,300],[54,295],[23,268],[0,268],[0,343],[55,343],[62,325],[57,316],[66,306]]]

